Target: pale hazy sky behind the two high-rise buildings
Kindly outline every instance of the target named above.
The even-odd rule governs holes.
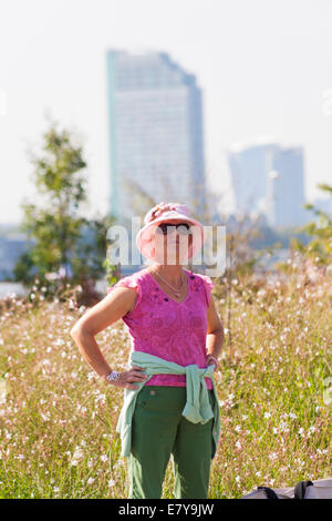
[[[257,135],[304,147],[308,200],[332,182],[331,0],[0,0],[0,223],[20,221],[33,194],[27,150],[39,150],[46,113],[83,140],[91,210],[107,210],[107,49],[168,52],[196,75],[209,185],[226,204],[225,151]]]

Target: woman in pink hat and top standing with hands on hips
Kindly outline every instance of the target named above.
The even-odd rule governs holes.
[[[204,226],[178,203],[159,203],[144,222],[136,244],[152,264],[110,287],[71,335],[105,382],[125,389],[117,427],[128,498],[160,498],[170,457],[175,498],[207,498],[220,429],[212,372],[224,328],[210,277],[181,267],[201,248]],[[120,318],[132,337],[132,367],[122,372],[111,370],[94,338]]]

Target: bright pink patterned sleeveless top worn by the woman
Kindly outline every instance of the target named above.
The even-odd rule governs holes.
[[[133,287],[137,299],[122,319],[127,326],[132,350],[148,353],[180,366],[206,366],[207,309],[214,282],[207,275],[185,269],[188,293],[184,302],[170,298],[146,268],[120,279],[107,288]],[[212,389],[210,378],[205,378]],[[186,387],[186,375],[154,375],[146,386]]]

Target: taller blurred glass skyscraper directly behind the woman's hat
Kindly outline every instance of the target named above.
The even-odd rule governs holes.
[[[193,74],[157,52],[107,52],[110,211],[129,218],[137,194],[205,203],[201,91]],[[139,195],[138,195],[139,196]]]

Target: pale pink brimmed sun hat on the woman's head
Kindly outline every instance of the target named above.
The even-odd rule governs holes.
[[[189,211],[185,204],[162,202],[147,212],[144,217],[145,226],[136,235],[137,248],[144,257],[154,260],[154,232],[159,223],[173,219],[183,221],[191,225],[193,248],[190,257],[194,257],[201,248],[205,241],[203,224],[189,216]]]

